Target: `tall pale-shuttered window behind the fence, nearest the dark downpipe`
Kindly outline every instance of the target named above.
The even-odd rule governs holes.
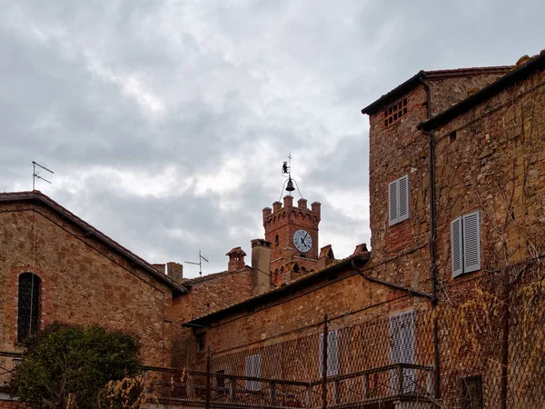
[[[414,364],[414,311],[391,315],[391,364]],[[403,390],[400,391],[399,371],[391,370],[391,391],[410,394],[415,391],[416,377],[413,369],[403,368]]]

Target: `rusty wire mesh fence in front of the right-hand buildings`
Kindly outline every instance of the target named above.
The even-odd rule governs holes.
[[[176,407],[542,408],[542,286],[346,327],[324,321],[311,335],[147,376]]]

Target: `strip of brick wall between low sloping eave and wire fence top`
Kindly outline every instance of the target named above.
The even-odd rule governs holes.
[[[370,269],[366,274],[377,273]],[[422,304],[426,302],[370,283],[347,268],[273,301],[227,314],[210,322],[207,328],[194,331],[206,333],[205,349],[210,348],[213,354],[233,354],[315,334],[324,314],[332,319],[332,328],[340,328]],[[202,362],[204,356],[205,351],[190,354],[190,363]]]

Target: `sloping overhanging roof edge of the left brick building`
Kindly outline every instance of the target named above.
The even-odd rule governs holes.
[[[103,242],[112,250],[117,252],[118,254],[122,254],[124,257],[131,260],[134,264],[142,268],[146,273],[153,275],[159,281],[163,282],[163,284],[167,284],[174,290],[177,290],[181,293],[187,292],[186,288],[183,287],[183,285],[174,283],[173,280],[168,275],[161,274],[160,272],[155,270],[152,264],[149,264],[143,258],[134,254],[133,252],[125,248],[123,245],[115,242],[106,234],[100,232],[99,230],[94,228],[91,224],[86,223],[83,219],[79,218],[78,216],[70,212],[68,209],[66,209],[62,205],[59,205],[53,199],[44,195],[43,193],[37,190],[32,192],[0,193],[0,203],[10,203],[10,202],[38,202],[42,205],[47,206],[48,208],[50,208],[57,214],[61,214],[65,219],[69,220],[70,222],[76,224],[78,227],[82,228],[87,235],[94,236],[97,240]]]

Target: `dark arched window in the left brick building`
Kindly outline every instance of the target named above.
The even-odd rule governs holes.
[[[40,284],[36,274],[19,275],[19,303],[17,309],[17,342],[23,342],[38,331],[40,324]]]

